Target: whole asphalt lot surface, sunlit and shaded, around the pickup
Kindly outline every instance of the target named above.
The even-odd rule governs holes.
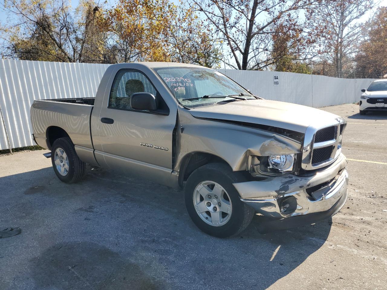
[[[349,197],[334,217],[261,235],[200,232],[183,194],[88,167],[61,183],[47,151],[0,156],[0,289],[387,289],[387,114],[348,121]],[[0,229],[2,230],[2,229]]]

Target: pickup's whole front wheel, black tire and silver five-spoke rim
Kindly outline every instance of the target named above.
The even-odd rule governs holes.
[[[254,210],[245,205],[233,183],[246,179],[226,164],[211,163],[196,169],[184,188],[185,206],[195,225],[206,234],[230,237],[251,222]]]

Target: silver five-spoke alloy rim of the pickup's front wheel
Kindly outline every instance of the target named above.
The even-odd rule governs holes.
[[[228,193],[215,181],[199,183],[195,188],[193,201],[199,217],[214,227],[227,223],[233,212]]]

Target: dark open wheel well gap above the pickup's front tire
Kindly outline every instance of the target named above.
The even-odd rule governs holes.
[[[188,177],[195,169],[198,169],[200,166],[209,163],[224,163],[229,166],[229,164],[219,156],[212,155],[204,152],[195,152],[192,154],[188,154],[184,157],[182,161],[182,165],[180,166],[179,171],[179,185],[183,187],[185,181],[187,181]]]

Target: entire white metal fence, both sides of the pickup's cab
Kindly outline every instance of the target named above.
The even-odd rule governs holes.
[[[34,100],[94,97],[109,65],[0,60],[0,108],[12,148],[34,145],[30,107]],[[219,70],[265,99],[311,107],[358,101],[372,79],[343,79],[286,72]],[[0,150],[8,149],[0,118]]]

